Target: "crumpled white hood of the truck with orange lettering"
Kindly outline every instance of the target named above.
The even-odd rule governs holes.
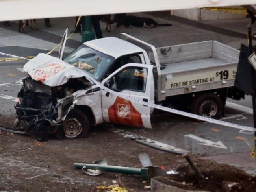
[[[24,72],[28,72],[30,77],[36,81],[40,81],[50,87],[55,87],[67,83],[71,78],[81,78],[88,76],[86,72],[72,66],[57,57],[40,53],[24,67]],[[89,82],[93,82],[87,78]]]

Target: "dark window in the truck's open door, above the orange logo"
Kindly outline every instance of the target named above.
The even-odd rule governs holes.
[[[127,67],[106,81],[104,85],[115,91],[132,90],[145,92],[147,74],[147,68]]]

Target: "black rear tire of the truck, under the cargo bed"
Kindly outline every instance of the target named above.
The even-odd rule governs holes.
[[[214,93],[198,95],[192,102],[191,113],[209,118],[219,118],[223,114],[223,103]]]

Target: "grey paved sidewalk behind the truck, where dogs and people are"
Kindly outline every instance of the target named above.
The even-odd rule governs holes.
[[[246,26],[249,19],[201,23],[175,16],[160,18],[145,13],[137,13],[134,15],[151,17],[159,23],[171,23],[172,26],[156,27],[153,29],[115,28],[113,26],[111,32],[107,32],[105,31],[106,24],[101,22],[103,36],[117,37],[119,33],[125,32],[143,41],[149,42],[156,47],[207,40],[216,40],[234,48],[240,48],[241,43],[247,43]],[[51,24],[51,28],[46,28],[43,19],[37,20],[38,30],[27,28],[27,33],[18,33],[17,22],[11,22],[10,27],[5,27],[0,23],[0,47],[20,46],[51,50],[61,41],[65,28],[68,27],[69,30],[74,28],[75,18],[52,18]],[[254,29],[256,28],[254,27]],[[82,36],[80,34],[73,34],[70,40],[67,41],[66,52],[71,52],[76,48],[81,43],[81,39]]]

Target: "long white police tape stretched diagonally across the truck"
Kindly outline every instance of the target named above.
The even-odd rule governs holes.
[[[5,53],[2,53],[2,52],[0,52],[0,54],[6,55],[6,56],[11,56],[11,57],[17,57],[17,58],[20,58],[20,59],[30,60],[30,59],[27,59],[27,58],[24,58],[24,57],[19,57],[19,56],[11,55],[11,54],[5,54]],[[96,81],[95,79],[93,79],[89,75],[86,76],[86,78],[89,78],[96,85],[98,85],[101,89],[104,89],[104,90],[108,91],[109,93],[111,93],[115,96],[119,96],[119,97],[121,97],[123,99],[126,99],[126,100],[129,100],[131,102],[139,103],[139,104],[142,104],[142,105],[147,105],[147,106],[153,107],[155,109],[159,109],[159,110],[162,110],[162,111],[167,111],[169,113],[174,113],[174,114],[186,116],[186,117],[189,117],[189,118],[194,118],[194,119],[197,119],[197,120],[202,120],[202,121],[206,121],[206,122],[210,122],[210,123],[214,123],[214,124],[219,124],[219,125],[227,126],[227,127],[233,127],[233,128],[236,128],[236,129],[240,129],[240,131],[239,131],[240,133],[251,134],[251,133],[254,133],[254,131],[256,131],[256,129],[253,128],[253,127],[241,126],[241,125],[238,125],[238,124],[229,123],[229,122],[225,122],[225,121],[221,121],[221,120],[216,120],[216,119],[200,116],[200,115],[197,115],[197,114],[187,113],[185,111],[180,111],[180,110],[177,110],[177,109],[171,109],[169,107],[164,107],[164,106],[161,106],[161,105],[156,105],[154,103],[149,103],[149,102],[144,102],[144,101],[141,101],[141,100],[138,100],[138,99],[134,99],[130,96],[123,95],[119,92],[115,92],[115,91],[109,89],[108,87],[105,87],[104,85],[100,84],[98,81]],[[248,132],[245,132],[245,131],[248,131]]]

